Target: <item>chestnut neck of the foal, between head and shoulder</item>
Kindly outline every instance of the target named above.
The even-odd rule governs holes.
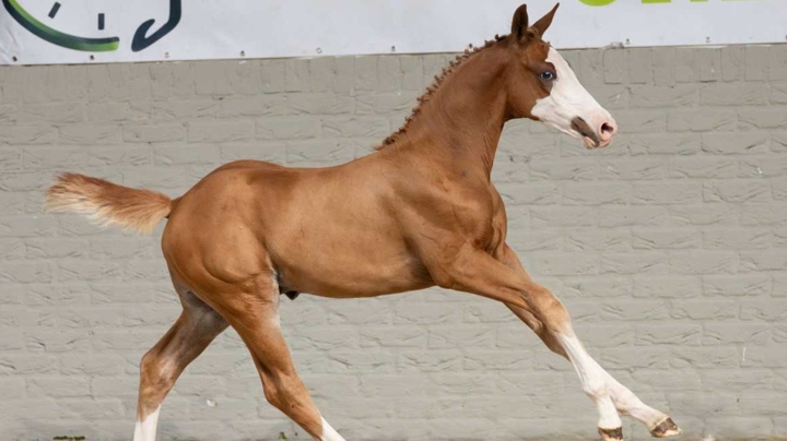
[[[404,136],[412,155],[489,179],[506,121],[506,51],[485,48],[462,62],[422,104]]]

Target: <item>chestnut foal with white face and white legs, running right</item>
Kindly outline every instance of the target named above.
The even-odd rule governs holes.
[[[504,302],[576,369],[604,440],[629,415],[654,437],[680,433],[594,360],[568,312],[533,282],[506,245],[506,213],[490,180],[503,124],[530,118],[603,147],[615,122],[541,39],[555,7],[510,35],[466,51],[437,78],[378,152],[329,168],[227,164],[169,198],[81,175],[48,191],[57,212],[149,233],[165,217],[162,247],[184,311],[142,358],[134,441],[153,441],[167,392],[228,325],[248,346],[268,401],[315,440],[343,438],[295,372],[281,335],[279,299],[297,293],[373,297],[441,286]]]

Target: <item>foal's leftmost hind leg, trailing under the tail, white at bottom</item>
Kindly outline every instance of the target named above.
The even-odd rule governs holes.
[[[155,441],[162,402],[180,372],[226,327],[227,322],[202,300],[176,286],[184,311],[140,363],[139,403],[133,441]]]

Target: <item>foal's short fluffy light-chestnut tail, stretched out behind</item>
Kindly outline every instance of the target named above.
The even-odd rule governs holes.
[[[45,210],[84,214],[103,227],[117,225],[146,235],[169,215],[173,200],[151,190],[131,189],[84,175],[62,174],[47,190]]]

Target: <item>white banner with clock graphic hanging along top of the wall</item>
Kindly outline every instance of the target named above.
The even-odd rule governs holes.
[[[0,64],[456,52],[522,0],[0,0]],[[553,0],[532,0],[531,22]],[[786,0],[563,0],[557,48],[784,43]]]

